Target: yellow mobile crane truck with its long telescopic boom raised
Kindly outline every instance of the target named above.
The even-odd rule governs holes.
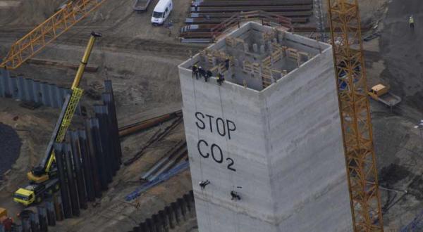
[[[31,172],[27,173],[30,184],[24,188],[19,188],[18,191],[15,192],[13,197],[15,202],[19,202],[25,206],[31,205],[34,202],[39,203],[42,201],[44,193],[52,193],[53,191],[59,190],[59,180],[57,178],[57,167],[53,146],[55,142],[61,143],[63,141],[66,131],[68,131],[68,127],[71,125],[73,115],[82,97],[83,91],[78,88],[80,80],[84,73],[85,66],[87,65],[88,58],[90,58],[94,41],[97,37],[101,36],[102,34],[99,33],[91,33],[90,41],[88,41],[84,56],[76,72],[75,79],[73,80],[71,87],[72,94],[66,96],[61,114],[59,115],[59,120],[56,122],[56,127],[54,127],[44,158],[39,163],[39,166],[33,167]]]

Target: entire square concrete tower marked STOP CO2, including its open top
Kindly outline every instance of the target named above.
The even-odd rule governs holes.
[[[201,232],[352,230],[329,44],[248,22],[179,74]]]

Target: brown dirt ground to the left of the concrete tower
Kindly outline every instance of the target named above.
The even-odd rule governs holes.
[[[33,25],[42,22],[50,15],[61,1],[51,2],[23,1],[16,17],[17,9],[5,11],[0,1],[0,54],[4,56],[10,44],[18,37],[28,32]],[[95,89],[94,84],[102,84],[105,79],[111,79],[116,97],[118,123],[123,126],[140,120],[179,110],[181,96],[177,65],[188,58],[190,50],[195,53],[202,46],[180,44],[176,38],[178,20],[185,18],[185,10],[190,1],[175,1],[176,10],[171,13],[173,27],[153,27],[150,22],[152,1],[149,12],[137,14],[132,9],[133,1],[106,1],[104,5],[89,18],[79,22],[69,32],[63,34],[54,44],[37,55],[37,58],[63,60],[78,64],[82,58],[91,31],[101,32],[89,63],[98,65],[98,72],[86,72],[81,83],[82,89],[92,90],[101,94],[103,89]],[[27,18],[32,18],[28,20]],[[182,21],[181,21],[182,22]],[[36,65],[22,65],[11,75],[23,75],[33,79],[71,86],[75,70]],[[82,105],[96,103],[94,98],[84,96]],[[0,186],[0,205],[6,207],[10,215],[23,210],[14,203],[11,195],[18,186],[27,183],[26,172],[37,165],[49,141],[59,110],[38,108],[27,110],[21,108],[19,102],[0,98],[0,122],[17,130],[22,140],[21,152],[11,172]],[[13,117],[18,116],[14,121]],[[76,119],[76,121],[80,118]],[[166,128],[167,122],[161,126]],[[145,142],[153,136],[160,127],[123,138],[123,161],[137,153]],[[88,210],[82,210],[81,217],[59,222],[50,231],[130,231],[133,226],[162,210],[170,202],[180,198],[192,189],[188,171],[174,176],[166,183],[161,183],[142,194],[135,202],[124,202],[125,196],[142,183],[140,174],[146,172],[159,160],[166,150],[183,139],[181,124],[163,141],[155,143],[146,150],[137,162],[121,170],[109,185],[109,191]],[[140,202],[140,210],[134,205]],[[190,228],[192,226],[189,226]]]

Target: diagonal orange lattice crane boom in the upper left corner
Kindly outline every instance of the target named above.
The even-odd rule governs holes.
[[[3,58],[0,67],[14,70],[22,65],[27,59],[35,56],[44,49],[47,44],[57,39],[61,34],[68,31],[75,23],[84,19],[92,11],[96,10],[105,0],[77,0],[71,1],[60,11],[51,15],[31,32],[16,41],[11,50]]]

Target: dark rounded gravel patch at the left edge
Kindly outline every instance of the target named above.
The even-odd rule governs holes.
[[[0,176],[18,159],[22,142],[16,131],[0,122]]]

